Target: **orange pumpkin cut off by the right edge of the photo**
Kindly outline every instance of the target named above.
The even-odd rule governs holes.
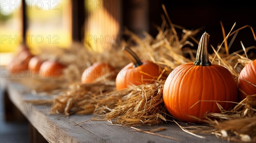
[[[251,85],[247,81],[256,85],[256,60],[248,63],[239,74],[238,88],[240,100],[246,98],[247,95],[256,94],[256,87]],[[245,92],[247,95],[241,91]]]

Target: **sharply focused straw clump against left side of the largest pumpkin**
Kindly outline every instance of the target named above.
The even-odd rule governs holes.
[[[106,120],[116,119],[112,123],[126,126],[165,123],[166,108],[162,96],[163,83],[137,86],[103,117]]]

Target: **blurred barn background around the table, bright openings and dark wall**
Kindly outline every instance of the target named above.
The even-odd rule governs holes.
[[[226,33],[235,22],[234,29],[246,25],[254,30],[256,27],[254,5],[244,0],[232,3],[223,3],[222,0],[1,0],[0,65],[8,64],[21,44],[33,51],[40,47],[67,48],[73,42],[80,42],[94,50],[104,51],[113,43],[128,38],[123,33],[125,29],[140,38],[143,38],[143,31],[155,37],[158,33],[156,27],[163,22],[162,4],[172,23],[181,28],[177,30],[178,34],[183,28],[202,28],[195,39],[199,40],[207,31],[209,44],[214,47],[223,41],[220,21]],[[230,53],[241,49],[240,41],[245,47],[256,46],[249,27],[239,31]],[[197,49],[197,46],[191,48]],[[1,89],[3,87],[1,82]],[[1,138],[26,138],[26,119],[23,120],[25,123],[7,122],[2,105],[12,103],[3,101],[3,90],[0,95]]]

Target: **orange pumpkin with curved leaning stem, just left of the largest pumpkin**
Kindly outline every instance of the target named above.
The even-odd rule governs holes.
[[[140,61],[140,58],[131,49],[125,47],[125,51],[133,62],[117,74],[116,89],[125,89],[130,85],[138,86],[145,83],[154,83],[161,74],[160,67],[151,61]]]

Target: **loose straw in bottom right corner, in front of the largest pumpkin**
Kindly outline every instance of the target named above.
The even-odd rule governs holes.
[[[236,142],[256,141],[256,94],[247,96],[230,111],[206,114],[209,126],[188,127],[191,132],[215,134]]]

